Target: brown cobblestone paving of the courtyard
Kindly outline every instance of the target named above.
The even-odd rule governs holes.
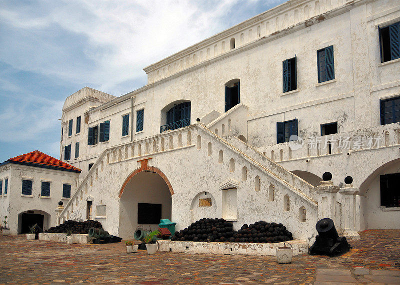
[[[124,243],[67,245],[0,236],[0,284],[400,284],[400,230],[360,236],[341,257],[301,255],[285,265],[276,257],[126,254]]]

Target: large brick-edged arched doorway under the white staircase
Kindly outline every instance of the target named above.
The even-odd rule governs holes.
[[[162,172],[153,167],[138,169],[129,175],[119,199],[118,235],[121,238],[132,238],[138,227],[156,230],[160,219],[171,219],[170,184],[165,180]]]

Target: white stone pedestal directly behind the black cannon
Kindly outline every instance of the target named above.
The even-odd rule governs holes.
[[[335,227],[340,228],[340,225],[336,225],[336,193],[339,191],[339,187],[333,185],[332,181],[321,181],[321,185],[315,187],[318,202],[318,220],[323,218],[332,219],[335,223]]]

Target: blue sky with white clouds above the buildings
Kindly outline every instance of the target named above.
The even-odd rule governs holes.
[[[143,67],[282,2],[0,1],[0,162],[59,158],[67,96],[135,90]]]

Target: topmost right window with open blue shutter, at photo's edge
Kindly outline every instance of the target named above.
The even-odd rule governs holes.
[[[378,29],[380,62],[400,58],[400,22]]]

